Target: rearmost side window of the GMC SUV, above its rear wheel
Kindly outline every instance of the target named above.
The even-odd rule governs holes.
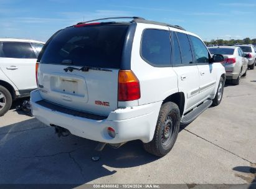
[[[156,66],[171,65],[169,31],[146,29],[141,41],[141,57]]]

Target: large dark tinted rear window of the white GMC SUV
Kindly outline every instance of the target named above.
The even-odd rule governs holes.
[[[129,25],[69,27],[49,42],[40,63],[120,68]]]

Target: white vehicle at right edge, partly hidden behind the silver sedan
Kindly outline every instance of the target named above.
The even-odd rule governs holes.
[[[248,67],[251,70],[254,70],[256,63],[256,52],[254,45],[235,45],[237,47],[242,48],[243,52],[247,54],[246,58],[248,59]]]

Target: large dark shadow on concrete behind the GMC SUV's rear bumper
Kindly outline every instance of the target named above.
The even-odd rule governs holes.
[[[0,127],[0,184],[62,183],[73,188],[115,175],[118,168],[158,160],[143,150],[140,141],[128,142],[120,149],[106,146],[100,153],[93,150],[96,145],[72,135],[59,138],[52,127],[35,118]],[[100,160],[93,162],[93,155]]]

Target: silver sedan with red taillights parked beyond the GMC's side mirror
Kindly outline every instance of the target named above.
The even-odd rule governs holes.
[[[225,67],[227,80],[232,80],[233,85],[239,85],[241,76],[246,75],[248,60],[240,47],[220,46],[209,47],[212,55],[220,54],[224,56],[222,65]]]

